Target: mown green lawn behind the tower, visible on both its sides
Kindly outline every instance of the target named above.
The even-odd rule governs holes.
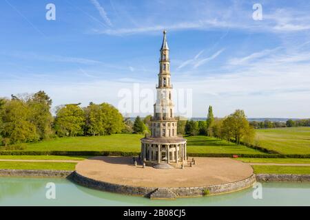
[[[24,151],[123,151],[140,152],[143,135],[115,134],[97,137],[62,137],[25,144]],[[249,153],[262,154],[246,146],[218,140],[214,137],[187,138],[187,153]]]

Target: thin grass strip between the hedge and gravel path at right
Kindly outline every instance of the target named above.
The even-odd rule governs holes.
[[[239,157],[236,160],[251,163],[275,163],[275,164],[310,164],[310,158],[245,158]]]

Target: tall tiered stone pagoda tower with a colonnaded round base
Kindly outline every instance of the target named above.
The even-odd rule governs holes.
[[[178,121],[174,118],[166,34],[164,30],[159,59],[158,85],[156,85],[156,103],[151,120],[151,135],[141,139],[141,159],[148,166],[155,168],[180,167],[187,162],[186,139],[177,135]]]

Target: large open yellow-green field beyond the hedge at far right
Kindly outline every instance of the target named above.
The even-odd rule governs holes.
[[[256,140],[282,154],[310,154],[310,127],[256,129]]]

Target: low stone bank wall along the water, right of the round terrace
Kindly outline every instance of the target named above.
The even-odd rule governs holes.
[[[310,181],[310,175],[256,174],[257,181]]]

